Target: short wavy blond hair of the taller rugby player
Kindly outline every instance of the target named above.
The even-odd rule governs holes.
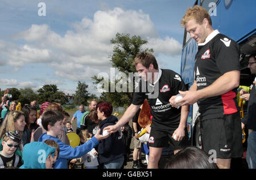
[[[180,21],[182,27],[185,27],[185,24],[191,20],[195,19],[196,23],[202,24],[204,18],[206,18],[210,25],[212,25],[212,19],[210,19],[209,12],[202,6],[196,5],[189,7]]]

